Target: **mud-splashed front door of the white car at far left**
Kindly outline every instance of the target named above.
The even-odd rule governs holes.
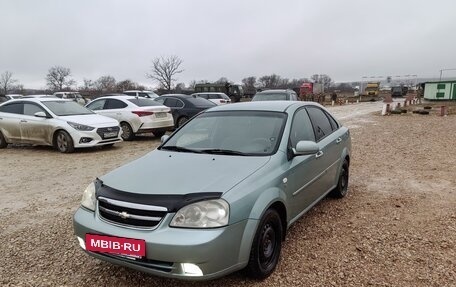
[[[21,141],[30,144],[52,144],[53,127],[48,118],[35,116],[37,112],[50,116],[37,103],[24,103],[24,115],[20,121]]]

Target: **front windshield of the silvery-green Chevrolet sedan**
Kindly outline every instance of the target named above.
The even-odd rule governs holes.
[[[203,113],[171,136],[160,148],[233,156],[274,154],[282,138],[286,114],[269,111]]]

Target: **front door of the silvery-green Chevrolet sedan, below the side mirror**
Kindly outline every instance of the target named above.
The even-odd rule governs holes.
[[[305,108],[297,110],[293,116],[289,134],[291,149],[296,148],[299,141],[315,142],[315,134],[309,115]],[[307,210],[320,197],[325,164],[318,154],[299,155],[292,157],[286,164],[288,174],[287,197],[292,218]]]

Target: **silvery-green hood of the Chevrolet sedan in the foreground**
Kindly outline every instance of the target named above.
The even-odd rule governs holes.
[[[100,180],[111,188],[138,194],[225,193],[269,159],[155,150]]]

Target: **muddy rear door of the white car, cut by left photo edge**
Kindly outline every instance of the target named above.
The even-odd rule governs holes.
[[[24,104],[9,103],[0,107],[0,130],[10,143],[21,142],[20,121],[23,117]]]

